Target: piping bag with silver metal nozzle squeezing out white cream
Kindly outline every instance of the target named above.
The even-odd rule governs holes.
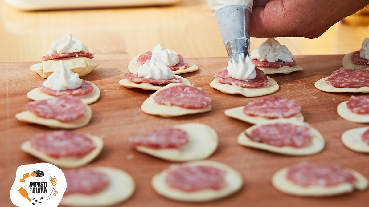
[[[217,21],[228,57],[238,63],[250,56],[252,0],[207,0]]]

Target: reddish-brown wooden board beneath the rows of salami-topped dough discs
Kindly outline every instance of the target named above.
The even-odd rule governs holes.
[[[152,176],[171,163],[135,151],[126,143],[128,137],[137,136],[174,124],[199,122],[213,127],[219,136],[219,147],[209,159],[230,165],[244,178],[242,190],[226,199],[193,206],[257,206],[257,207],[311,207],[311,206],[367,206],[369,190],[330,198],[300,198],[282,194],[273,188],[270,178],[277,170],[300,161],[337,163],[355,169],[369,178],[369,157],[348,150],[341,143],[341,134],[348,129],[368,126],[345,121],[337,115],[337,105],[351,95],[362,93],[328,93],[314,87],[315,81],[329,76],[342,66],[342,55],[297,56],[297,63],[304,68],[290,74],[269,75],[279,84],[279,91],[272,96],[293,98],[300,103],[305,121],[319,130],[325,140],[323,152],[307,157],[290,157],[271,152],[242,147],[237,144],[239,133],[251,124],[224,115],[224,110],[244,106],[256,98],[223,94],[210,87],[214,74],[226,67],[228,59],[192,58],[199,66],[193,73],[180,74],[196,87],[202,88],[212,98],[213,110],[197,115],[163,118],[143,113],[142,102],[154,91],[128,89],[118,84],[128,72],[130,60],[101,60],[92,73],[83,77],[101,90],[99,101],[90,105],[93,110],[91,122],[77,131],[104,137],[102,153],[88,166],[112,166],[130,173],[137,189],[134,195],[118,206],[188,206],[165,199],[154,192],[150,185]],[[28,91],[44,81],[32,72],[32,62],[0,63],[0,200],[1,206],[13,206],[9,192],[15,171],[23,164],[41,162],[20,150],[20,145],[38,133],[50,131],[48,127],[24,124],[14,115],[25,110],[31,100]]]

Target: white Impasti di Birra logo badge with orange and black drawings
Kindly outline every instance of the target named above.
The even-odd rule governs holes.
[[[11,186],[10,200],[18,207],[57,207],[66,187],[65,176],[55,165],[21,165]]]

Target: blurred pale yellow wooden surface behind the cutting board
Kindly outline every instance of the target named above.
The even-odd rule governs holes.
[[[96,53],[94,60],[131,59],[138,53],[152,50],[158,43],[184,57],[227,56],[206,0],[120,0],[121,5],[126,2],[130,7],[113,7],[111,4],[108,5],[110,8],[72,10],[55,10],[66,5],[73,7],[70,0],[63,3],[61,0],[37,0],[38,4],[55,2],[44,3],[45,7],[54,9],[46,11],[16,8],[34,9],[32,3],[36,0],[6,1],[13,6],[0,0],[0,62],[41,61],[52,42],[63,38],[66,32],[72,32],[73,38],[81,40],[90,52]],[[142,5],[145,6],[138,7]],[[369,36],[367,15],[364,10],[359,11],[316,39],[277,40],[295,56],[346,54],[359,50],[363,39]],[[251,38],[251,51],[263,41],[263,38]]]

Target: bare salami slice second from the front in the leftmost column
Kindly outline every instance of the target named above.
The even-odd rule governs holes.
[[[66,130],[37,134],[30,142],[32,148],[54,158],[83,157],[96,148],[90,138]]]

